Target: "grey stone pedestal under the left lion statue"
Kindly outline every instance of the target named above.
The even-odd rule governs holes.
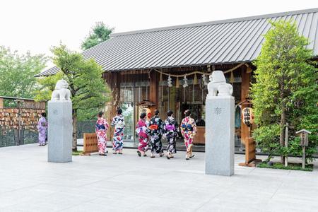
[[[48,162],[72,161],[72,102],[48,103]]]

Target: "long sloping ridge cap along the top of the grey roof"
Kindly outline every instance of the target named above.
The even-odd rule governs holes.
[[[214,25],[214,24],[221,24],[221,23],[232,23],[237,21],[244,21],[244,20],[254,20],[254,19],[262,19],[262,18],[273,18],[278,16],[292,16],[297,15],[301,13],[314,13],[318,12],[318,8],[308,8],[298,11],[287,11],[287,12],[281,12],[281,13],[270,13],[270,14],[264,14],[259,16],[247,16],[242,18],[229,18],[229,19],[223,19],[223,20],[212,20],[207,22],[201,22],[201,23],[190,23],[190,24],[184,24],[184,25],[172,25],[167,27],[161,27],[161,28],[150,28],[146,30],[133,30],[123,33],[112,33],[111,37],[117,37],[122,35],[134,35],[134,34],[140,34],[140,33],[150,33],[150,32],[157,32],[157,31],[163,31],[163,30],[174,30],[179,28],[192,28],[192,27],[199,27],[204,25]]]

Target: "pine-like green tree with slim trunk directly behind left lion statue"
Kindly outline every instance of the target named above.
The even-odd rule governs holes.
[[[102,80],[102,68],[93,59],[85,60],[81,54],[71,52],[65,45],[53,47],[52,53],[53,62],[61,70],[61,75],[39,80],[42,87],[37,93],[37,100],[49,99],[59,78],[68,81],[73,102],[73,151],[77,151],[78,114],[105,107],[110,91]]]

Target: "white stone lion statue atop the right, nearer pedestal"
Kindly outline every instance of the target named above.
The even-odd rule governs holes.
[[[212,96],[231,96],[233,87],[226,83],[223,71],[213,71],[210,75],[210,82],[208,83],[208,95],[206,98]]]

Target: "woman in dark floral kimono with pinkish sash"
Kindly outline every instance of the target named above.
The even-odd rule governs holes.
[[[178,136],[178,132],[178,124],[175,121],[175,118],[173,117],[173,112],[169,110],[167,112],[167,119],[165,119],[163,134],[163,136],[167,139],[167,159],[173,158],[173,154],[177,153],[176,139]]]

